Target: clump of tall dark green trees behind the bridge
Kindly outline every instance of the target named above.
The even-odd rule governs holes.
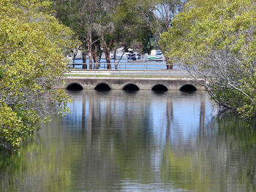
[[[148,41],[151,33],[145,21],[127,0],[52,0],[56,7],[56,17],[70,26],[83,42],[83,63],[86,50],[89,62],[101,54],[100,45],[105,50],[108,69],[110,51],[117,47],[129,47],[132,41],[140,42],[143,51],[150,50]],[[99,45],[99,42],[101,43]],[[90,66],[90,69],[92,66]]]

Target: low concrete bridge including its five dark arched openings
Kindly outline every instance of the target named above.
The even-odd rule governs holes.
[[[55,88],[79,90],[205,90],[192,78],[131,78],[131,77],[63,77],[64,85]],[[200,80],[203,82],[203,80]]]

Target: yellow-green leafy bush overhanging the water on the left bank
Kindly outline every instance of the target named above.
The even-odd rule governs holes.
[[[67,69],[64,59],[77,43],[51,15],[49,1],[0,2],[0,145],[15,148],[24,134],[48,120],[47,107],[67,111],[67,95],[53,85]],[[48,104],[43,105],[42,101]]]

